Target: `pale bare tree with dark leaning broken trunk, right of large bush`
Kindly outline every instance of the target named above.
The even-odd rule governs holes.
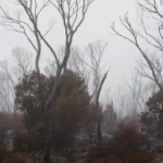
[[[88,46],[85,49],[86,58],[84,60],[84,55],[76,55],[78,58],[78,63],[82,62],[82,65],[87,66],[89,68],[90,73],[89,76],[91,76],[88,80],[88,85],[90,86],[90,95],[91,95],[91,101],[96,104],[96,118],[97,118],[97,135],[98,135],[98,142],[101,141],[101,118],[99,113],[99,98],[100,92],[102,89],[102,86],[104,84],[104,80],[106,79],[108,72],[103,73],[103,70],[105,67],[101,66],[102,63],[102,57],[104,54],[105,48],[108,43],[103,42],[101,40],[97,40],[95,42],[88,43]],[[86,76],[86,75],[85,75]]]

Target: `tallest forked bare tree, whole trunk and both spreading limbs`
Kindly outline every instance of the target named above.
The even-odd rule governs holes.
[[[28,1],[15,0],[15,4],[18,4],[18,7],[23,9],[23,12],[28,18],[28,22],[25,22],[21,17],[20,12],[17,12],[16,16],[14,17],[12,14],[9,14],[9,12],[5,10],[4,7],[1,5],[0,8],[3,13],[3,16],[1,16],[1,24],[3,24],[7,28],[9,27],[14,32],[18,32],[23,34],[26,37],[26,39],[29,41],[34,50],[36,51],[36,71],[37,71],[38,78],[40,76],[39,59],[41,55],[41,48],[42,48],[41,41],[43,41],[43,43],[49,48],[49,50],[51,51],[55,60],[55,64],[57,64],[55,82],[53,84],[53,89],[49,95],[45,108],[46,126],[47,126],[46,127],[47,139],[46,139],[46,149],[45,149],[45,156],[43,156],[45,163],[51,162],[50,151],[51,151],[52,135],[51,135],[50,115],[51,115],[52,103],[53,103],[52,101],[54,100],[57,93],[57,88],[60,83],[61,73],[63,68],[66,70],[74,36],[78,30],[79,26],[83,24],[87,11],[93,1],[95,0],[61,0],[61,1],[42,0],[40,2],[39,0],[38,2],[38,0],[28,0]],[[42,11],[45,11],[45,9],[48,8],[49,5],[54,7],[54,9],[61,15],[64,30],[65,30],[65,53],[61,62],[59,61],[59,57],[55,50],[53,49],[52,43],[50,43],[46,38],[46,35],[49,33],[52,26],[47,30],[45,35],[42,34],[42,32],[40,30],[40,26],[38,25],[39,16],[41,15]],[[28,34],[28,32],[30,34]],[[30,38],[32,35],[35,39]],[[39,83],[40,82],[41,80],[39,79]],[[39,84],[39,88],[41,91],[41,83]]]

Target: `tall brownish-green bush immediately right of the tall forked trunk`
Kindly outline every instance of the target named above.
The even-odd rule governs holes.
[[[71,71],[61,77],[61,92],[53,110],[54,143],[58,150],[72,148],[88,113],[89,95],[83,78]]]

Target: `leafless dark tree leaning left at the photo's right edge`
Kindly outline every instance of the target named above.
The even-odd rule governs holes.
[[[162,1],[156,0],[138,0],[137,5],[139,9],[138,17],[140,22],[140,29],[136,29],[136,27],[131,24],[128,18],[128,14],[120,17],[120,21],[129,36],[123,35],[118,32],[114,24],[112,24],[111,28],[114,34],[128,40],[139,50],[146,61],[143,67],[141,64],[141,73],[146,77],[154,80],[158,88],[162,91],[161,67],[159,67],[159,60],[154,55],[162,54],[163,51],[163,3]],[[147,47],[147,49],[145,49],[145,47]],[[145,67],[148,67],[150,73],[148,72],[147,74]]]

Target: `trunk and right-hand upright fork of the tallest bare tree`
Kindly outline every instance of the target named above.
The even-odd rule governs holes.
[[[62,73],[62,70],[63,68],[66,70],[67,61],[71,55],[71,48],[72,48],[74,35],[76,34],[77,29],[84,22],[86,13],[87,13],[90,4],[93,1],[95,0],[51,1],[52,5],[59,11],[59,13],[62,17],[62,21],[63,21],[63,25],[64,25],[64,29],[65,29],[65,53],[64,53],[61,64],[59,63],[59,59],[57,59],[58,67],[57,67],[55,83],[53,86],[53,90],[52,90],[51,95],[49,96],[49,99],[46,103],[46,111],[48,111],[48,108],[51,108],[50,105],[52,103],[53,97],[55,96],[55,91],[57,91],[58,85],[60,83],[60,75]],[[47,113],[46,113],[46,115],[48,115],[47,120],[49,120],[50,112],[48,114]],[[51,143],[51,127],[50,127],[49,121],[47,123],[47,128],[49,129],[48,133],[50,135],[48,136],[48,139],[47,139],[48,141],[47,141],[47,150],[46,150],[47,152],[45,154],[45,162],[48,162],[48,160],[50,159],[49,154],[50,154],[50,149],[51,149],[51,145],[50,145]]]

